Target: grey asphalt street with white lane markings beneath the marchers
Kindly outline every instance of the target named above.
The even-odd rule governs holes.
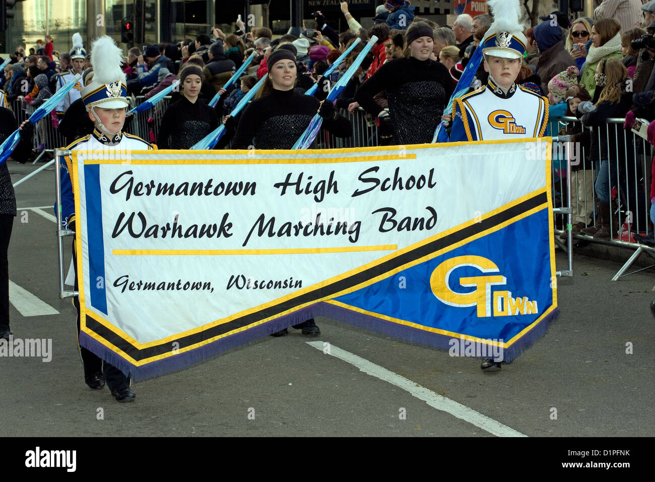
[[[14,182],[37,166],[10,162]],[[652,435],[653,270],[612,282],[620,264],[574,256],[558,280],[561,314],[502,371],[317,318],[195,367],[133,384],[134,403],[84,384],[75,309],[58,298],[54,169],[16,188],[9,247],[12,331],[52,339],[52,359],[0,357],[0,436]],[[65,239],[69,252],[70,238]],[[68,256],[68,255],[67,255]],[[557,269],[566,257],[557,252]],[[32,294],[43,304],[39,304]],[[28,308],[56,314],[28,313]],[[54,310],[54,311],[53,311]],[[315,342],[309,344],[308,342]],[[322,348],[331,348],[324,353]],[[318,349],[317,349],[318,348]],[[349,361],[344,360],[348,359]],[[362,369],[364,371],[362,371]]]

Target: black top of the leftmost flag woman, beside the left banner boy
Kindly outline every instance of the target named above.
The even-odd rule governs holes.
[[[189,102],[182,96],[170,104],[157,134],[159,149],[189,149],[218,127],[216,111],[203,99]]]

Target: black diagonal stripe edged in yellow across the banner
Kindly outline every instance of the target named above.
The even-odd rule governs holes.
[[[275,315],[279,315],[280,313],[290,310],[295,306],[320,300],[320,298],[325,298],[326,296],[331,296],[337,292],[359,285],[360,283],[364,283],[369,279],[383,275],[388,271],[395,270],[404,264],[413,262],[424,256],[428,256],[428,254],[454,245],[463,239],[474,236],[478,233],[481,233],[482,231],[489,230],[490,228],[510,220],[515,216],[522,214],[523,212],[530,211],[534,207],[542,205],[547,201],[548,197],[544,191],[531,197],[530,199],[526,199],[525,201],[506,209],[505,211],[498,212],[497,214],[494,214],[493,216],[490,216],[481,222],[474,223],[462,230],[450,233],[449,235],[441,237],[440,239],[436,239],[430,243],[427,243],[426,245],[417,247],[411,251],[407,251],[381,264],[368,268],[367,270],[360,271],[359,273],[356,273],[350,277],[340,279],[339,281],[335,281],[325,287],[299,294],[298,296],[290,298],[289,300],[281,302],[280,304],[269,306],[268,308],[263,308],[262,310],[256,311],[255,313],[250,313],[248,315],[238,317],[232,321],[223,323],[222,325],[217,325],[201,332],[183,336],[174,341],[179,343],[179,349],[185,348],[204,340],[208,340],[209,338],[213,338],[214,336],[219,336],[221,334],[233,331],[234,329],[250,325],[251,323],[255,323],[262,319],[274,317]],[[149,348],[139,350],[130,342],[127,342],[121,338],[121,336],[111,331],[111,329],[105,327],[96,319],[94,319],[92,314],[86,315],[86,327],[94,331],[99,336],[102,336],[102,338],[107,340],[107,342],[113,344],[137,361],[161,355],[162,353],[170,352],[173,343],[166,342],[165,344],[151,346]]]

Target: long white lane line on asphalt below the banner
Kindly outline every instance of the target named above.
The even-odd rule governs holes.
[[[307,344],[313,346],[316,350],[324,351],[323,342],[307,342]],[[404,376],[400,376],[399,374],[389,371],[379,365],[375,365],[375,363],[372,363],[371,361],[358,357],[357,355],[350,353],[350,351],[341,350],[341,348],[330,344],[329,354],[343,361],[347,361],[364,373],[402,388],[414,397],[417,397],[419,400],[423,400],[430,405],[430,407],[447,412],[481,428],[482,430],[486,430],[493,435],[497,435],[498,437],[527,437],[527,435],[517,432],[513,428],[503,425],[500,422],[496,422],[493,418],[489,418],[488,416],[466,407],[466,405],[462,405],[461,403],[443,397],[438,393],[434,393],[432,390],[428,390],[411,380],[407,380]]]

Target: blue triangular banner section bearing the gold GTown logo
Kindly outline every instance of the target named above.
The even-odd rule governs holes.
[[[439,329],[509,342],[553,304],[548,209],[335,300]]]

